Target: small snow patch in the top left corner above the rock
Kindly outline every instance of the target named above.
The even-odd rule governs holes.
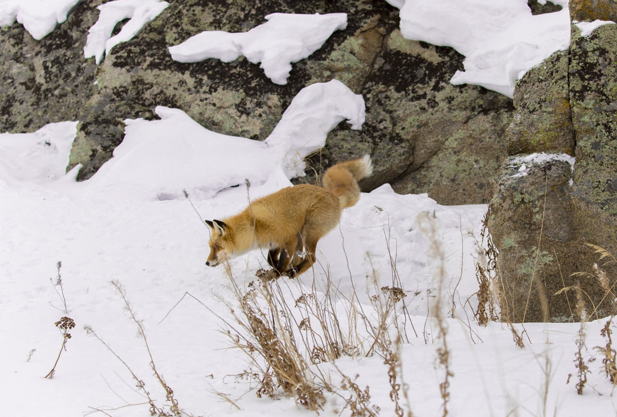
[[[12,25],[17,20],[39,41],[67,20],[79,2],[81,0],[1,0],[0,26]]]

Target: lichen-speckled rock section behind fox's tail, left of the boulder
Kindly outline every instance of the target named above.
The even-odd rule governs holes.
[[[400,194],[428,192],[439,204],[487,203],[486,184],[505,154],[513,108],[494,91],[451,85],[463,59],[449,47],[409,41],[393,30],[362,90],[363,130],[339,126],[313,165],[348,159],[350,144],[360,144],[376,165],[361,183],[365,190],[387,182]]]

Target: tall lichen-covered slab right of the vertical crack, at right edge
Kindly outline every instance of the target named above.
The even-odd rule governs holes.
[[[616,216],[617,25],[599,27],[589,38],[578,36],[578,28],[573,28],[569,67],[576,131],[573,194],[598,214]]]

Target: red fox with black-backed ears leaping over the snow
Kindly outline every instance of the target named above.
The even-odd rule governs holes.
[[[267,261],[280,275],[294,277],[315,263],[317,242],[334,229],[343,209],[360,199],[358,181],[373,173],[369,155],[337,163],[323,175],[323,187],[300,184],[257,199],[242,213],[206,220],[210,255],[205,265],[253,249],[268,249]]]

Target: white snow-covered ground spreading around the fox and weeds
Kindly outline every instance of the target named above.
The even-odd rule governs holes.
[[[0,7],[26,10],[36,1],[5,0]],[[70,2],[47,2],[52,4]],[[39,18],[38,25],[46,19]],[[152,376],[136,323],[110,284],[115,280],[143,324],[157,370],[187,415],[314,415],[284,395],[276,401],[257,398],[255,384],[235,377],[249,364],[241,352],[228,349],[230,340],[219,331],[225,328],[219,316],[229,317],[222,300],[234,303],[231,281],[222,267],[204,265],[209,232],[200,216],[212,220],[232,215],[249,199],[289,186],[289,178],[304,169],[302,157],[323,146],[337,123],[347,120],[352,128],[362,128],[362,97],[338,81],[310,86],[294,99],[265,142],[212,133],[177,109],[158,107],[157,114],[161,120],[126,121],[126,135],[114,158],[82,183],[75,181],[78,168],[64,173],[75,122],[30,134],[0,134],[1,414],[148,416],[149,405],[125,364],[145,382],[157,407],[165,407],[165,393]],[[535,162],[537,155],[521,163]],[[436,366],[439,331],[428,315],[439,263],[427,255],[428,238],[415,220],[419,213],[429,213],[440,225],[436,236],[445,257],[445,296],[450,307],[455,302],[458,317],[447,319],[453,372],[449,415],[617,415],[611,383],[601,373],[602,358],[593,349],[605,345],[600,337],[605,320],[587,324],[589,350],[583,353],[598,360],[589,363],[589,381],[584,395],[578,395],[576,376],[569,374],[576,374],[579,324],[528,323],[520,349],[507,326],[489,323],[485,328],[471,318],[478,291],[476,239],[485,212],[484,205],[442,206],[426,194],[399,196],[388,185],[362,194],[357,205],[344,211],[340,227],[319,242],[314,270],[294,281],[280,281],[283,297],[296,308],[292,295],[309,291],[313,282],[323,287],[329,276],[342,297],[355,288],[363,310],[374,315],[365,293],[367,276],[376,276],[378,287],[392,286],[395,258],[413,322],[413,328],[408,323],[406,329],[410,343],[402,346],[400,355],[410,406],[416,416],[442,415],[443,372]],[[58,261],[67,313],[61,311],[60,288],[53,284]],[[246,288],[264,265],[257,250],[234,259],[231,274]],[[178,303],[186,292],[195,298]],[[44,379],[62,345],[62,334],[54,326],[62,316],[72,318],[76,327],[54,378]],[[122,361],[86,334],[85,324]],[[336,366],[360,389],[370,387],[371,404],[381,408],[382,416],[394,415],[383,358],[342,357]],[[333,364],[321,369],[334,386],[341,386]],[[349,396],[348,391],[339,394]],[[224,400],[225,395],[237,407]],[[344,410],[342,397],[326,395],[326,400],[321,415],[351,414]]]

